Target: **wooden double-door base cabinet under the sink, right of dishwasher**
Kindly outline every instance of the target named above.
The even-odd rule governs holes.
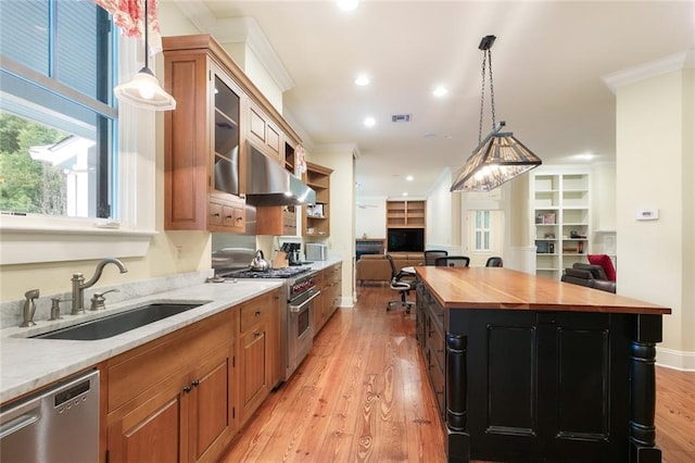
[[[238,429],[227,310],[105,362],[109,462],[215,461]]]

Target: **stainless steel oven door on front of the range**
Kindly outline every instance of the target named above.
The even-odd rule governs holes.
[[[288,372],[290,377],[302,363],[314,341],[314,327],[312,318],[314,312],[314,299],[321,291],[309,289],[288,303]]]

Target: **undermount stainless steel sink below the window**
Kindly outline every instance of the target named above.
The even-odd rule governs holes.
[[[157,302],[141,305],[126,312],[108,315],[102,318],[91,320],[79,325],[67,326],[54,331],[31,336],[35,339],[70,339],[75,341],[93,341],[121,335],[130,329],[139,328],[150,323],[157,322],[177,313],[186,312],[200,303],[168,303]]]

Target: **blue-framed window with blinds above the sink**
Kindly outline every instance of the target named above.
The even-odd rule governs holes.
[[[92,0],[2,2],[0,210],[116,217],[114,30]]]

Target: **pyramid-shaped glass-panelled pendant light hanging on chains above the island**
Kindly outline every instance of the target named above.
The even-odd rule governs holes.
[[[541,159],[533,154],[510,132],[500,132],[505,122],[495,123],[495,93],[492,85],[492,43],[495,36],[485,36],[478,49],[483,51],[482,91],[480,95],[480,126],[478,148],[466,160],[451,191],[490,191],[533,167],[541,165]],[[485,71],[490,65],[490,100],[492,105],[492,132],[481,141],[482,113],[485,99]]]

